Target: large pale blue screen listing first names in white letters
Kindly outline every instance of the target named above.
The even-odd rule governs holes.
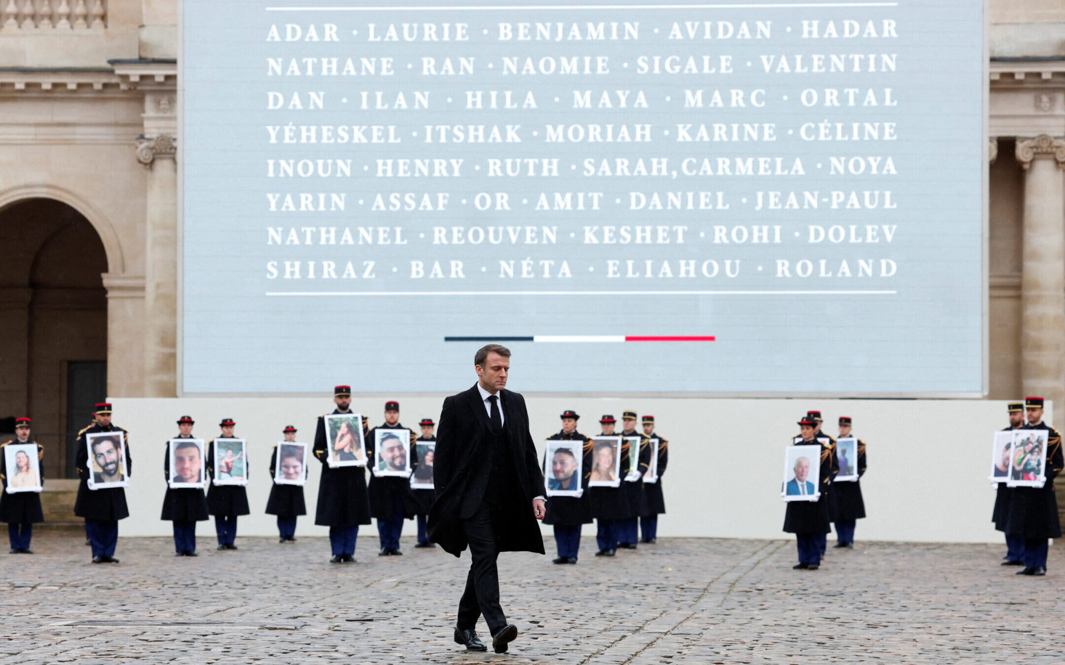
[[[978,395],[981,0],[185,0],[182,389]]]

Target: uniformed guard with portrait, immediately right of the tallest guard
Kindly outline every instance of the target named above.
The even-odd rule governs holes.
[[[411,470],[415,468],[417,461],[414,454],[414,440],[417,438],[414,432],[399,425],[399,402],[384,402],[384,423],[366,433],[366,464],[376,468],[378,458],[387,454],[386,450],[377,450],[375,432],[382,430],[404,430],[407,434],[405,442],[400,442],[398,447],[390,447],[390,453],[394,452],[395,458],[390,464],[397,464],[403,467],[407,465],[407,460],[400,460],[398,455],[406,455],[410,460]],[[394,440],[394,439],[393,439]],[[406,446],[404,446],[406,444]],[[383,446],[382,446],[383,448]],[[398,556],[399,534],[403,533],[403,520],[414,517],[416,505],[414,495],[410,489],[410,477],[400,476],[376,476],[370,475],[370,511],[377,519],[377,533],[380,536],[381,549],[379,556]]]

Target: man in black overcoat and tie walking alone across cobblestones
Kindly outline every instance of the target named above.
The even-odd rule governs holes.
[[[525,399],[505,389],[510,351],[490,344],[474,355],[477,383],[444,399],[435,460],[437,499],[429,537],[456,556],[470,547],[472,563],[459,600],[455,642],[487,647],[474,630],[485,616],[492,648],[504,653],[518,637],[499,606],[499,552],[543,554],[538,519],[544,516],[543,476],[529,433]]]

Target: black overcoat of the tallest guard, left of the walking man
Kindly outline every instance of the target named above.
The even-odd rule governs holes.
[[[342,413],[339,409],[334,414]],[[344,412],[350,413],[350,412]],[[365,437],[366,418],[362,419]],[[325,416],[318,416],[314,430],[314,456],[322,463],[318,481],[318,503],[314,523],[320,527],[358,527],[370,523],[370,496],[366,494],[366,468],[363,466],[329,466],[329,443],[326,440]]]

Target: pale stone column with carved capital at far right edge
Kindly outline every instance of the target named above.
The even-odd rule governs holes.
[[[1065,422],[1065,138],[1017,138],[1025,169],[1021,385]]]

